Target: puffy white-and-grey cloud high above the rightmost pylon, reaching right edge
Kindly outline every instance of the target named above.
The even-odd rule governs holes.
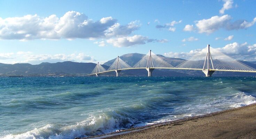
[[[232,17],[230,15],[223,16],[213,16],[209,19],[202,19],[200,21],[196,21],[196,27],[199,33],[207,33],[211,34],[220,28],[224,28],[226,30],[239,30],[246,29],[251,27],[256,22],[256,17],[252,22],[247,22],[245,20],[238,20],[235,22],[231,22]]]

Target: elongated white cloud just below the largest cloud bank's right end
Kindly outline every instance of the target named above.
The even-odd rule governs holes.
[[[116,39],[109,39],[107,43],[113,44],[115,47],[129,47],[137,44],[145,44],[149,39],[145,36],[134,35]]]

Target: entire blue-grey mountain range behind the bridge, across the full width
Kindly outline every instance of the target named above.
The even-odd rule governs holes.
[[[144,54],[132,53],[120,56],[130,66],[135,65],[139,60],[144,57]],[[177,66],[184,62],[185,59],[181,58],[169,58],[162,55],[157,55],[166,62],[173,66]],[[115,59],[109,60],[102,66],[107,70]],[[256,62],[240,61],[250,67],[256,68]],[[64,76],[77,76],[90,74],[95,63],[77,63],[77,62],[57,62],[57,63],[41,63],[38,65],[31,64],[2,64],[0,63],[0,75],[23,75],[23,76],[46,76],[46,75],[64,75]],[[105,76],[115,75],[115,72],[102,74]],[[121,76],[146,76],[147,71],[145,69],[140,70],[123,70],[120,73]],[[167,69],[155,69],[153,76],[204,76],[202,71],[195,70],[167,70]],[[215,72],[213,76],[255,76],[256,73],[243,73],[243,72]]]

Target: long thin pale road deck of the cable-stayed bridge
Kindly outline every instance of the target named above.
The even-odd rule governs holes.
[[[199,71],[203,71],[202,68],[175,68],[175,67],[150,67],[150,68],[145,68],[145,67],[138,67],[138,68],[122,68],[122,69],[118,69],[118,70],[109,70],[109,71],[104,71],[104,72],[99,72],[99,73],[88,74],[88,75],[86,75],[86,76],[96,75],[96,74],[101,74],[101,73],[107,73],[107,72],[113,72],[113,71],[134,70],[134,69],[171,69],[171,70],[199,70]],[[256,73],[256,71],[218,70],[218,69],[209,69],[209,71],[255,72],[255,73]]]

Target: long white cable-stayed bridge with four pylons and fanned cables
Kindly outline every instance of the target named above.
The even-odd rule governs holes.
[[[125,63],[124,60],[118,56],[108,70],[102,67],[98,62],[92,73],[88,75],[98,76],[102,73],[115,71],[116,76],[119,76],[119,73],[122,70],[132,69],[146,69],[148,71],[148,76],[152,76],[154,69],[200,70],[206,77],[210,77],[215,71],[256,73],[254,68],[213,49],[209,44],[207,45],[207,48],[203,50],[205,51],[195,54],[176,67],[164,61],[162,58],[151,52],[151,50],[149,50],[148,54],[142,57],[142,59],[133,67]]]

